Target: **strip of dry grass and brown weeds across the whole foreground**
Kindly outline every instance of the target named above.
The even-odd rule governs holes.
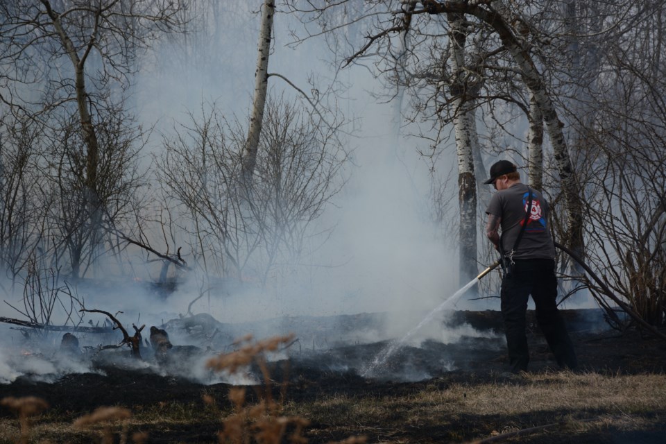
[[[256,365],[266,385],[257,388],[253,402],[248,402],[248,388],[237,386],[223,400],[205,392],[196,403],[161,402],[133,412],[101,407],[72,422],[59,420],[56,413],[44,415],[46,404],[38,398],[5,398],[1,403],[19,420],[0,418],[0,444],[147,443],[151,431],[211,425],[219,430],[217,442],[238,444],[356,444],[365,436],[376,443],[486,443],[522,439],[518,434],[529,434],[531,443],[555,443],[589,442],[590,436],[618,432],[666,433],[663,374],[470,375],[285,402],[273,396],[278,391],[271,390],[266,354],[290,340],[245,338],[237,351],[209,362],[216,371]]]

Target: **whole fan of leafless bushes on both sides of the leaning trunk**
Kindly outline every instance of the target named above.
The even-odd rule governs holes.
[[[276,264],[293,264],[307,228],[342,185],[346,153],[336,128],[297,102],[266,108],[250,202],[239,186],[245,128],[215,108],[167,140],[157,162],[165,195],[184,210],[180,226],[198,265],[221,278],[265,283]]]

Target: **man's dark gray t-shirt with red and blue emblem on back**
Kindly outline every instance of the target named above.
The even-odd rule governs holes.
[[[555,246],[548,230],[548,203],[539,191],[530,189],[532,191],[531,214],[513,258],[554,259]],[[502,218],[500,228],[502,229],[504,253],[509,253],[515,244],[515,239],[518,237],[525,219],[528,202],[527,185],[523,183],[516,183],[507,189],[497,191],[490,198],[486,213]]]

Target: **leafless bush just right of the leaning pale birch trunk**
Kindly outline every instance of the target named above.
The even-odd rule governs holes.
[[[332,123],[335,126],[332,126]],[[253,191],[268,265],[291,266],[305,252],[309,230],[344,183],[348,153],[336,133],[341,123],[323,122],[298,101],[269,103]]]

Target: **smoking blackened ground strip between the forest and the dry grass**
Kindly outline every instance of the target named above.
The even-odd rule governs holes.
[[[666,345],[637,334],[620,334],[604,322],[596,309],[562,310],[577,346],[581,367],[632,373],[658,371],[666,363]],[[117,372],[178,379],[188,384],[256,384],[261,375],[253,368],[235,375],[213,373],[205,367],[211,357],[238,348],[235,341],[246,335],[254,339],[292,334],[280,352],[269,356],[273,363],[289,361],[287,379],[355,377],[369,382],[417,382],[446,373],[502,373],[507,370],[502,320],[498,311],[451,311],[418,334],[391,337],[392,315],[293,316],[256,323],[219,323],[200,314],[176,318],[159,325],[169,336],[169,348],[156,350],[143,332],[137,359],[126,347],[100,350],[102,344],[121,341],[117,331],[84,334],[74,347],[58,340],[29,336],[5,345],[0,360],[1,392],[12,386],[62,384],[77,375],[103,379]],[[531,370],[556,368],[545,340],[528,312]],[[644,350],[651,350],[644,352]],[[282,373],[282,366],[275,371]],[[274,375],[276,378],[278,375]],[[90,377],[90,376],[88,376]]]

